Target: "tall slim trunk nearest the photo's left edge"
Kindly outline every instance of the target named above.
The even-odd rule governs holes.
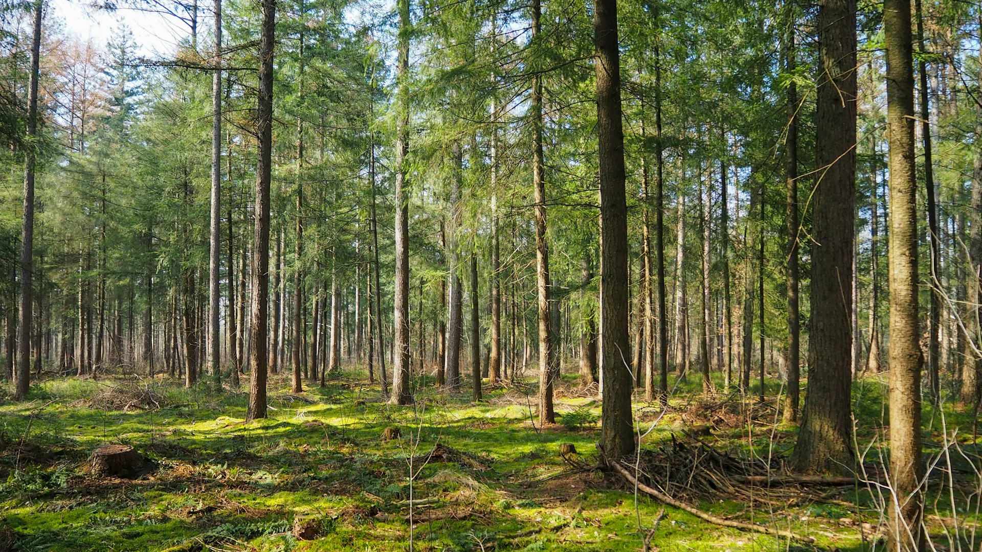
[[[44,0],[34,0],[34,27],[30,40],[30,77],[27,84],[27,154],[24,157],[24,215],[21,225],[21,308],[17,325],[17,384],[14,400],[23,401],[30,389],[30,329],[34,278],[34,167],[37,150],[37,81],[41,51]]]

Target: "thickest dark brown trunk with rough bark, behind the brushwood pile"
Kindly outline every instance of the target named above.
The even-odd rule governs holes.
[[[817,183],[812,213],[808,390],[795,447],[797,468],[852,468],[852,241],[855,220],[856,3],[821,0],[816,111]]]

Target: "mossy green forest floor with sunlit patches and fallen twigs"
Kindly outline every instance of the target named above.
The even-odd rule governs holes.
[[[653,428],[642,440],[650,451],[642,460],[661,459],[688,477],[690,485],[680,486],[677,476],[668,490],[705,512],[813,543],[704,522],[635,496],[621,475],[595,469],[600,405],[595,388],[580,389],[573,379],[558,386],[560,423],[537,427],[532,387],[485,387],[485,401],[474,405],[468,395],[448,398],[420,386],[414,407],[392,407],[377,385],[346,373],[323,388],[306,385],[300,396],[274,376],[269,417],[253,422],[245,421],[245,393],[204,384],[186,390],[135,378],[53,378],[20,404],[3,389],[0,552],[634,551],[645,549],[645,537],[651,550],[858,551],[882,537],[885,493],[875,482],[768,488],[724,481],[719,494],[700,483],[701,472],[691,468],[707,455],[756,459],[780,473],[796,427],[780,423],[774,397],[763,405],[755,396],[704,401],[697,379],[678,387],[664,413],[635,397],[638,426]],[[866,478],[875,480],[882,475],[885,379],[854,388],[856,442]],[[937,465],[926,516],[935,549],[977,550],[971,413],[926,406],[924,417],[931,427],[925,458]],[[401,436],[383,439],[390,427]],[[132,479],[88,474],[89,453],[107,443],[132,445],[152,464]],[[443,447],[430,455],[437,443]],[[576,453],[561,455],[564,443]],[[672,458],[694,460],[668,466]]]

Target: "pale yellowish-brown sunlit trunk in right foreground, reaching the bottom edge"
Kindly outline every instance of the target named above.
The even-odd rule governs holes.
[[[890,501],[888,549],[924,550],[921,350],[917,304],[917,181],[910,0],[885,0],[890,140]],[[935,235],[935,239],[937,235]]]

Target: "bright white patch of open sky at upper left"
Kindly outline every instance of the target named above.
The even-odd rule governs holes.
[[[133,31],[139,46],[136,53],[142,57],[173,57],[179,39],[187,35],[187,27],[169,16],[132,9],[109,13],[90,7],[90,3],[90,0],[50,0],[46,17],[57,18],[66,31],[82,40],[91,37],[98,45],[105,45],[120,24],[125,24]]]

